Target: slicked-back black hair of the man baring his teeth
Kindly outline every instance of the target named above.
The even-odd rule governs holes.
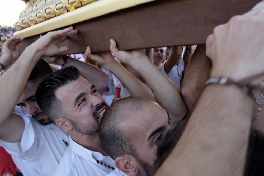
[[[79,70],[74,67],[66,67],[54,73],[50,73],[39,84],[36,90],[36,101],[41,111],[52,121],[55,121],[59,115],[63,116],[62,104],[55,95],[55,91],[68,84],[71,81],[77,80],[80,76]]]

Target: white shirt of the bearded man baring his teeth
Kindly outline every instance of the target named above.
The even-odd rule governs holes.
[[[112,169],[97,163],[96,159],[115,168],[115,161],[110,156],[88,150],[70,138],[70,145],[53,175],[105,176],[110,174]]]

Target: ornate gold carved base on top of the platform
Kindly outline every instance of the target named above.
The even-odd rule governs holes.
[[[20,13],[15,28],[21,30],[69,12],[97,0],[22,0],[26,8]],[[73,9],[74,9],[73,8]]]

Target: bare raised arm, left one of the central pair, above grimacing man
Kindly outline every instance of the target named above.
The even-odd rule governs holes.
[[[145,85],[117,62],[111,52],[91,54],[91,48],[88,47],[85,55],[113,73],[124,84],[132,96],[145,97],[155,101]]]

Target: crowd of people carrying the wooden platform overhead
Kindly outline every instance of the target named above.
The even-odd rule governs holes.
[[[8,39],[0,174],[263,175],[263,9],[197,47],[121,51],[111,39],[109,52],[60,56],[73,27],[22,53]]]

